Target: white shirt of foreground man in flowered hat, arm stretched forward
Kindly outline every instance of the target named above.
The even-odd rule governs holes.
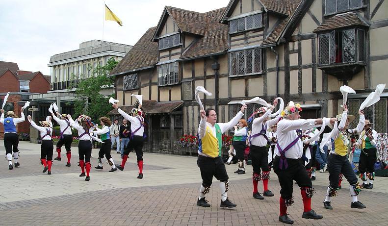
[[[289,144],[291,144],[298,134],[296,133],[297,129],[310,129],[318,127],[320,125],[314,125],[315,119],[298,119],[298,120],[289,120],[282,119],[278,123],[278,145],[282,150],[284,150]],[[280,156],[278,146],[275,147],[275,154]],[[303,154],[303,142],[301,139],[298,139],[295,145],[293,145],[288,151],[285,152],[286,158],[299,159]]]

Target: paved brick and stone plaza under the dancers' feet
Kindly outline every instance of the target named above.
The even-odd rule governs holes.
[[[230,199],[236,208],[219,207],[218,182],[213,180],[207,200],[210,208],[196,205],[201,184],[196,157],[144,154],[144,178],[137,179],[138,168],[134,153],[123,172],[109,173],[97,165],[97,149],[92,152],[90,181],[79,177],[78,149],[72,150],[71,167],[54,161],[52,175],[42,173],[40,145],[20,142],[19,168],[8,170],[5,160],[0,165],[0,225],[283,225],[278,221],[280,186],[271,174],[269,188],[275,197],[255,200],[252,197],[252,167],[247,174],[236,175],[236,165],[227,165],[230,176]],[[4,153],[3,142],[0,152]],[[120,163],[120,154],[112,157]],[[54,153],[55,156],[56,153]],[[312,207],[323,214],[322,220],[302,218],[300,190],[294,185],[295,204],[288,208],[294,225],[388,225],[388,178],[377,177],[375,188],[363,190],[359,196],[367,208],[351,209],[348,183],[343,181],[339,195],[332,200],[334,210],[326,210],[323,200],[328,173],[317,172],[313,181],[316,193]],[[262,183],[259,183],[262,192]]]

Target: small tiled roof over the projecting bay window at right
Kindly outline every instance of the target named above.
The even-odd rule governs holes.
[[[356,13],[348,12],[343,14],[337,14],[336,16],[326,20],[326,22],[313,30],[312,32],[320,32],[325,30],[333,30],[340,27],[348,26],[369,26],[364,22]]]

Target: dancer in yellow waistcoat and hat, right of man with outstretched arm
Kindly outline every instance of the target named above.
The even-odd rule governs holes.
[[[355,129],[348,129],[349,124],[354,120],[355,116],[348,116],[348,107],[346,104],[343,105],[343,112],[341,115],[337,115],[338,126],[334,126],[330,133],[330,139],[332,141],[332,150],[330,151],[328,158],[329,167],[329,180],[330,185],[327,188],[326,199],[323,201],[323,205],[326,209],[333,209],[331,205],[331,198],[337,195],[336,190],[338,189],[339,175],[342,173],[343,176],[349,182],[350,195],[352,197],[351,208],[363,209],[366,206],[358,201],[358,195],[361,192],[359,183],[357,182],[357,176],[350,165],[348,156],[346,155],[349,147],[349,134],[356,134],[362,131],[364,127],[364,115],[362,111],[359,111],[360,122]]]

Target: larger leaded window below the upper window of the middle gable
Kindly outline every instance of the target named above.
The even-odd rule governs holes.
[[[231,52],[230,76],[261,73],[261,49],[249,49]]]

